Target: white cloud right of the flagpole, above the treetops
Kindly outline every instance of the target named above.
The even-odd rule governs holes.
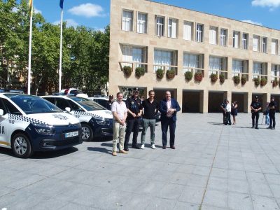
[[[68,11],[73,15],[85,16],[86,18],[105,16],[102,6],[93,3],[83,3],[79,6],[74,6]]]

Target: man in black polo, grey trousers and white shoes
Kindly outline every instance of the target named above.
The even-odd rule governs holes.
[[[155,92],[153,90],[150,90],[148,94],[149,94],[148,99],[142,102],[144,115],[143,115],[143,130],[141,134],[141,149],[145,148],[145,138],[146,138],[146,131],[148,127],[150,127],[150,132],[151,132],[151,147],[155,149],[155,116],[158,113],[159,104],[154,99]]]

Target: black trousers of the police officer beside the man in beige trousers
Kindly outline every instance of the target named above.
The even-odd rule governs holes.
[[[127,130],[125,133],[125,148],[128,148],[128,143],[130,142],[130,134],[133,130],[132,145],[137,145],[137,137],[139,132],[140,118],[134,118],[132,120],[127,120]]]

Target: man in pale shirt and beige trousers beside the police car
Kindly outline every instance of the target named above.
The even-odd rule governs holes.
[[[127,154],[124,150],[125,142],[125,120],[127,119],[127,106],[123,102],[123,93],[118,92],[117,101],[111,105],[113,113],[113,156],[117,156],[117,144],[119,138],[120,153]]]

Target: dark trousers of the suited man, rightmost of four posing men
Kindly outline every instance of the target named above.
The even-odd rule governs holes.
[[[175,144],[175,129],[176,129],[176,121],[172,120],[172,118],[165,118],[161,120],[162,124],[162,146],[167,146],[167,131],[169,127],[170,132],[170,146],[174,146]]]

